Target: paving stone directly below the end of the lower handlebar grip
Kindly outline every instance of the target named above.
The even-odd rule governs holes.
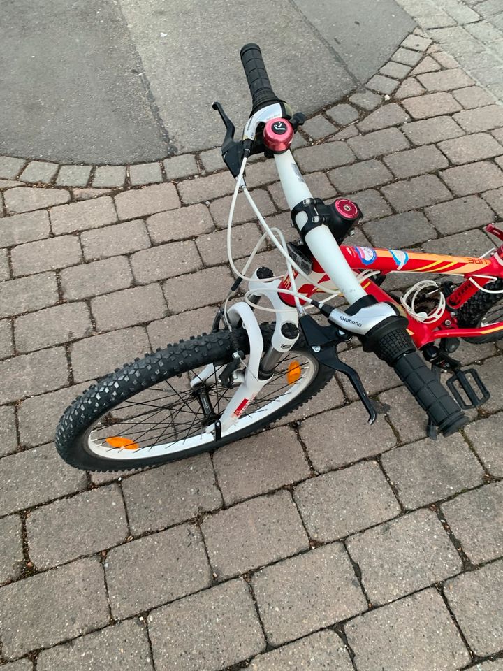
[[[460,435],[399,447],[384,454],[382,464],[407,508],[478,486],[483,478],[479,462]]]

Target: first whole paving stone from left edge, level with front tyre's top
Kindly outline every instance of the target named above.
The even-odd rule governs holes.
[[[61,345],[78,340],[92,332],[89,308],[85,303],[54,305],[29,315],[17,317],[14,322],[15,343],[18,352]]]

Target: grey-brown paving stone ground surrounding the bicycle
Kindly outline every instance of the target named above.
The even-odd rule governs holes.
[[[500,0],[400,1],[440,46],[409,36],[368,89],[309,120],[296,158],[316,194],[361,203],[359,244],[476,256],[503,219],[502,96],[447,47],[462,38],[481,68],[503,54]],[[449,439],[428,440],[400,380],[351,347],[372,428],[334,379],[212,455],[73,470],[52,444],[68,402],[210,329],[231,280],[233,182],[212,151],[162,171],[70,168],[0,159],[1,667],[500,671],[503,347],[460,347],[493,396]],[[273,168],[251,164],[249,185],[288,233]],[[244,204],[237,215],[242,258],[258,229]]]

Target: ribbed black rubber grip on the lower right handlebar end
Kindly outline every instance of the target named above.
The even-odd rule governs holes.
[[[443,435],[452,435],[467,424],[468,417],[416,352],[400,356],[393,368]]]

